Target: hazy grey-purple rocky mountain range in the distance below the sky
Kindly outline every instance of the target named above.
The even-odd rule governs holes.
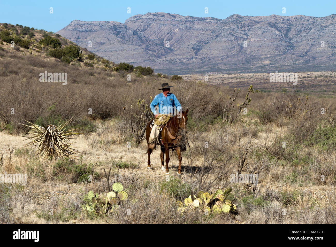
[[[57,33],[117,63],[206,74],[334,70],[335,30],[336,14],[217,19],[146,13],[124,24],[74,20]]]

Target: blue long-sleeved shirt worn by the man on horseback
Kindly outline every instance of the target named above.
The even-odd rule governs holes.
[[[159,105],[159,113],[156,111],[157,109],[155,109],[156,105]],[[182,109],[181,104],[178,102],[176,96],[170,92],[167,94],[167,97],[163,95],[163,93],[159,93],[155,96],[151,103],[151,110],[154,115],[170,113],[176,115],[176,110],[174,110],[174,107],[178,112]]]

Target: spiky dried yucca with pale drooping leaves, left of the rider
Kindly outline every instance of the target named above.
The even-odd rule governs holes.
[[[76,159],[77,156],[75,156],[75,154],[79,153],[79,151],[71,147],[71,144],[74,142],[70,142],[69,140],[74,138],[69,138],[69,136],[80,133],[74,132],[75,129],[64,129],[71,120],[72,119],[61,125],[59,125],[59,121],[58,126],[50,124],[49,122],[48,126],[43,127],[25,120],[30,123],[31,126],[26,124],[22,125],[30,127],[30,134],[33,136],[26,139],[32,140],[24,147],[32,146],[32,148],[37,148],[35,155],[38,155],[42,159],[49,157],[52,157],[53,159],[56,159],[57,157],[73,157]]]

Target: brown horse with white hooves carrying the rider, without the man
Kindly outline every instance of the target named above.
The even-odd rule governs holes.
[[[177,175],[181,175],[181,151],[186,150],[185,146],[185,131],[187,126],[187,117],[188,110],[185,112],[182,111],[180,117],[173,116],[169,119],[169,121],[165,124],[166,126],[163,127],[161,131],[161,137],[163,144],[160,145],[161,147],[161,169],[166,173],[169,174],[169,150],[174,149],[176,154],[178,155],[178,171]],[[152,120],[151,120],[152,122]],[[152,128],[150,127],[151,122],[149,122],[146,126],[146,140],[147,140],[147,154],[148,154],[148,169],[151,169],[151,153],[154,149],[156,149],[156,143],[149,145],[148,140],[151,135]],[[166,168],[163,163],[163,159],[166,153]]]

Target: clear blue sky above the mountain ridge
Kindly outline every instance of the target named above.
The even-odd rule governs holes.
[[[49,8],[53,13],[49,13]],[[131,13],[127,13],[127,8]],[[207,7],[209,13],[204,12]],[[282,13],[282,8],[286,13]],[[20,24],[24,26],[57,32],[72,20],[114,20],[124,23],[135,14],[147,12],[166,12],[198,17],[216,17],[225,19],[232,14],[240,15],[308,15],[322,17],[336,13],[336,0],[155,0],[155,1],[113,1],[113,0],[0,0],[0,23]]]

